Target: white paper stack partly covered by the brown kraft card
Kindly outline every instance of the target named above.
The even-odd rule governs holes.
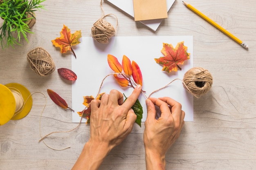
[[[134,11],[133,11],[133,2],[132,0],[106,0],[111,4],[115,5],[119,9],[123,10],[124,12],[128,13],[132,18],[134,18]],[[167,0],[167,12],[171,9],[171,6],[175,0]],[[140,21],[142,24],[146,25],[148,28],[156,31],[159,25],[161,24],[163,19],[156,19],[156,20],[144,20]]]

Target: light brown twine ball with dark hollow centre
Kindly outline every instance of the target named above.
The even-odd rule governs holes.
[[[213,77],[208,70],[194,67],[184,74],[183,82],[184,88],[198,98],[210,90]]]

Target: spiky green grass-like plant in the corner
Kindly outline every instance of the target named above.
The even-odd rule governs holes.
[[[0,27],[0,43],[2,49],[13,45],[21,45],[23,37],[28,42],[27,33],[35,23],[34,12],[44,9],[41,4],[45,0],[0,0],[0,17],[3,20]],[[33,21],[34,20],[34,21]]]

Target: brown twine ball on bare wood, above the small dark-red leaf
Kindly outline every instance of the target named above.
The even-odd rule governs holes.
[[[40,76],[47,76],[55,70],[51,55],[41,47],[27,53],[30,68]]]

